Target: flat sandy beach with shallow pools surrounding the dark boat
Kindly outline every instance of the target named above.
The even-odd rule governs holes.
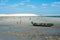
[[[60,40],[59,18],[38,18],[37,21],[32,18],[32,20],[35,20],[34,22],[53,23],[54,26],[51,27],[33,26],[32,20],[27,21],[29,18],[23,19],[19,19],[18,23],[18,19],[13,18],[0,21],[0,40]]]

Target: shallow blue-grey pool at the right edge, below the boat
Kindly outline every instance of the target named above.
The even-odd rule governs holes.
[[[39,33],[47,34],[47,35],[60,35],[60,29],[43,29],[40,30]]]

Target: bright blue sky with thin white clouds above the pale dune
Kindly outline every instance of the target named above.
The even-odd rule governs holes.
[[[0,14],[60,14],[60,0],[0,0]]]

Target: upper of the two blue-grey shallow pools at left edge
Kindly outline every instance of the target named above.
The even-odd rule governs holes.
[[[21,32],[25,30],[30,30],[30,28],[17,28],[12,26],[0,26],[0,31],[16,31]]]

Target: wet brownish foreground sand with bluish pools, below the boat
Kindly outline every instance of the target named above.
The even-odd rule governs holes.
[[[16,25],[16,27],[14,26],[4,27],[2,26],[2,30],[0,29],[1,40],[60,40],[60,29],[52,27],[37,27],[37,26],[22,27],[22,25],[21,26]],[[25,30],[22,28],[24,28]],[[22,30],[19,31],[20,29]]]

